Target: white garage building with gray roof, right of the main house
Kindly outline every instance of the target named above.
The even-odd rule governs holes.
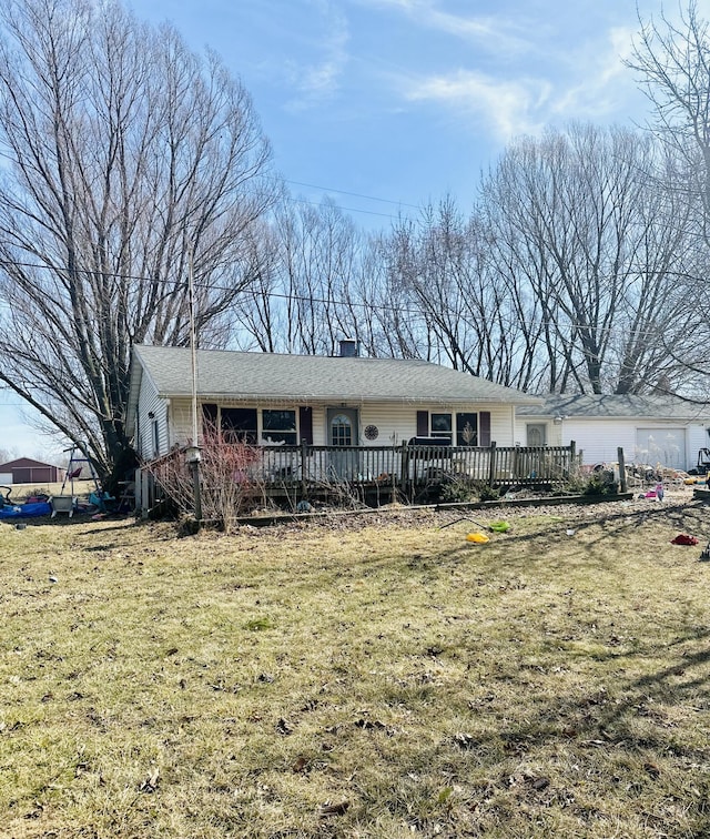
[[[585,466],[616,462],[621,447],[627,464],[688,471],[710,446],[709,429],[710,405],[656,395],[552,394],[517,408],[515,438],[524,446],[575,441]]]

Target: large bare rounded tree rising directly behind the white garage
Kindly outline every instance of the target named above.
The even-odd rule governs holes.
[[[542,317],[551,391],[642,392],[680,374],[688,205],[649,135],[576,125],[521,140],[486,179],[497,247]],[[666,171],[666,170],[663,170]]]

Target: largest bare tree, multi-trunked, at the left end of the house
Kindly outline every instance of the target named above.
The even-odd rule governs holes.
[[[0,381],[120,467],[133,343],[202,345],[258,271],[272,202],[251,99],[212,53],[118,2],[6,0]],[[4,305],[1,301],[4,301]]]

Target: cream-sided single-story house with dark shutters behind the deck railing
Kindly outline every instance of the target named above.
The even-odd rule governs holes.
[[[412,437],[510,446],[536,396],[418,360],[196,352],[200,426],[261,445],[398,446]],[[192,353],[134,346],[126,431],[150,461],[191,442]],[[199,431],[201,433],[201,428]]]

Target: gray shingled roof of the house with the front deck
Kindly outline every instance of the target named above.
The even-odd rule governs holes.
[[[190,350],[134,346],[133,352],[133,375],[138,372],[135,362],[139,362],[161,396],[192,393]],[[197,391],[202,400],[231,396],[294,402],[498,402],[515,405],[540,402],[537,396],[423,361],[217,350],[197,351]]]

